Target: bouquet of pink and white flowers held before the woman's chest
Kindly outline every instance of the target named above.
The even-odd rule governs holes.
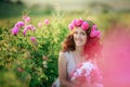
[[[70,80],[80,87],[103,87],[102,74],[91,62],[80,63],[69,76]]]

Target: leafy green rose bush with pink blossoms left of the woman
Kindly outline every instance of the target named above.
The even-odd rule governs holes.
[[[50,87],[57,77],[60,44],[67,30],[48,18],[38,23],[32,24],[26,15],[13,28],[1,28],[0,67],[14,72],[17,80],[29,87]]]

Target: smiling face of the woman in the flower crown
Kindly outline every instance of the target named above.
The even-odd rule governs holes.
[[[76,47],[84,46],[87,42],[87,34],[86,30],[82,30],[81,27],[75,28],[74,32],[74,41]]]

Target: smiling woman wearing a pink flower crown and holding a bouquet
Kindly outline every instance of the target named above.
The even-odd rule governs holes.
[[[101,52],[101,33],[90,21],[74,20],[70,34],[63,42],[58,57],[61,87],[103,87],[96,58]],[[94,70],[94,73],[93,73]]]

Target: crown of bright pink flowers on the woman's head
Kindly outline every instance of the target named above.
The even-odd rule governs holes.
[[[72,23],[68,25],[69,30],[73,30],[75,27],[81,27],[83,30],[88,30],[90,27],[90,24],[82,18],[79,20],[73,20]],[[90,37],[101,37],[101,32],[98,30],[96,25],[92,25],[90,28]]]

